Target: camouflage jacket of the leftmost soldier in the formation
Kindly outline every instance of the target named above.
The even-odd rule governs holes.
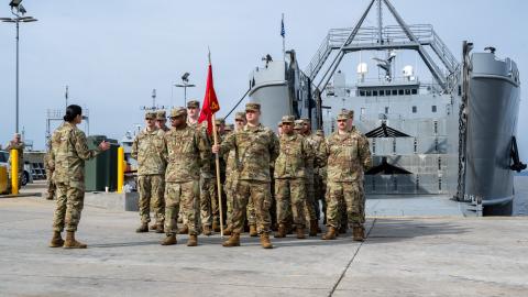
[[[157,175],[165,173],[163,158],[163,132],[161,129],[144,129],[132,143],[131,156],[138,160],[138,175]]]

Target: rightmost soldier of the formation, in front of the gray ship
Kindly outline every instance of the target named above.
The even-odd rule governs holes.
[[[339,227],[339,202],[346,206],[348,222],[353,239],[365,238],[365,198],[363,173],[371,166],[369,141],[352,125],[353,113],[342,111],[338,116],[338,131],[326,141],[327,164],[327,226],[323,240],[333,240]]]

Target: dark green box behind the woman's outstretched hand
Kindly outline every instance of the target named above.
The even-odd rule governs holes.
[[[105,135],[91,135],[86,140],[90,150],[97,148],[103,140],[110,143],[110,150],[86,162],[86,191],[105,191],[106,187],[109,191],[114,191],[118,188],[118,141]]]

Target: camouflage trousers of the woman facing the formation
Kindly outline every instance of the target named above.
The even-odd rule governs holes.
[[[85,204],[85,188],[81,183],[57,183],[57,208],[53,217],[53,230],[77,231]]]

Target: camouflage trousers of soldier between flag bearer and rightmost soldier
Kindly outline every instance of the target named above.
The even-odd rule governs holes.
[[[292,212],[294,224],[305,228],[305,199],[306,188],[302,178],[277,178],[275,179],[275,199],[277,201],[277,221],[288,223]]]

